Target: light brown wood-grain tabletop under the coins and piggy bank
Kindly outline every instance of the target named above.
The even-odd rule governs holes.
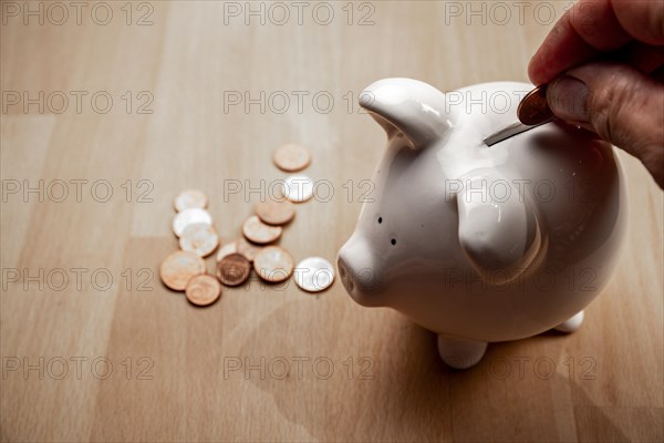
[[[626,247],[583,328],[468,371],[340,281],[198,309],[158,279],[174,196],[205,190],[230,241],[286,141],[333,194],[280,245],[333,260],[385,145],[359,93],[527,81],[571,3],[501,4],[3,1],[2,441],[664,440],[663,194],[627,155]]]

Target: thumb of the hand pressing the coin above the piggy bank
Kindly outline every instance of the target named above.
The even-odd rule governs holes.
[[[637,157],[664,188],[664,85],[627,65],[573,68],[547,87],[551,111]]]

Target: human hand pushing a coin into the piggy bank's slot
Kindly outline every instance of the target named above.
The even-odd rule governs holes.
[[[580,0],[547,35],[528,75],[549,83],[558,117],[634,155],[664,188],[663,0]]]

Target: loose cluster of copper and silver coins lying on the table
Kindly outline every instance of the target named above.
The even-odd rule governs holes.
[[[299,172],[311,163],[304,146],[288,143],[274,151],[277,167]],[[305,175],[291,175],[283,182],[283,199],[259,203],[256,215],[242,225],[242,237],[222,245],[217,253],[216,278],[205,274],[204,258],[219,246],[219,236],[212,217],[206,210],[208,197],[200,190],[188,189],[175,198],[177,214],[173,231],[179,238],[181,250],[170,254],[162,262],[159,276],[168,288],[185,291],[187,299],[197,306],[208,306],[221,295],[221,284],[242,285],[251,270],[269,282],[284,281],[295,274],[295,284],[310,292],[329,288],[334,281],[334,268],[321,257],[309,257],[295,267],[290,254],[272,245],[295,216],[293,203],[307,202],[313,195],[313,181]]]

